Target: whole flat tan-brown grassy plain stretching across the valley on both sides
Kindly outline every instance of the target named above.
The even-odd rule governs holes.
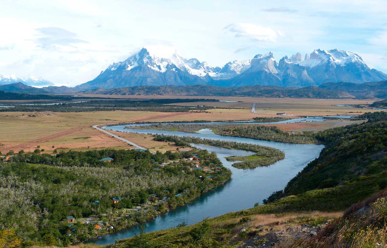
[[[105,96],[106,97],[106,96]],[[119,96],[137,97],[139,96]],[[149,96],[150,97],[150,96]],[[183,96],[184,98],[188,98]],[[180,98],[183,98],[180,96]],[[145,98],[145,97],[144,97]],[[154,98],[154,97],[153,97]],[[168,96],[173,98],[173,96]],[[199,98],[197,96],[192,98]],[[206,97],[211,98],[211,97]],[[4,154],[9,150],[15,152],[33,151],[37,145],[45,152],[54,148],[68,149],[102,149],[105,147],[130,148],[127,144],[113,139],[109,135],[91,128],[95,124],[132,122],[132,121],[179,121],[179,120],[248,120],[257,116],[276,116],[277,112],[297,115],[341,115],[349,112],[360,112],[363,109],[336,107],[334,104],[363,104],[366,100],[334,100],[334,99],[292,99],[292,98],[253,98],[253,97],[212,97],[217,99],[243,101],[240,103],[215,103],[223,107],[238,105],[240,109],[209,109],[210,113],[167,113],[150,111],[95,111],[80,113],[34,113],[36,117],[27,115],[31,112],[0,112],[0,151]],[[257,113],[251,112],[252,103],[256,104]],[[204,102],[203,102],[204,103]],[[197,103],[193,103],[197,105]],[[209,103],[205,103],[209,104]],[[234,107],[234,108],[235,108]],[[368,110],[367,111],[373,111]],[[361,114],[361,113],[356,113]],[[348,125],[355,121],[319,121],[310,123],[289,123],[277,125],[285,131],[325,130],[331,127]],[[120,134],[121,135],[121,134]],[[127,134],[124,134],[127,135]],[[129,139],[130,138],[130,139]],[[142,140],[132,135],[128,140],[139,145],[162,147],[165,150],[175,149],[168,145],[152,143],[150,138]],[[144,143],[144,141],[146,141]]]

